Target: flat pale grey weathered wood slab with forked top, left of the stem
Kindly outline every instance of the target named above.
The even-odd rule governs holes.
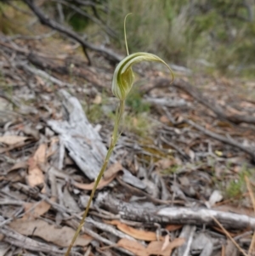
[[[82,172],[89,179],[95,179],[103,165],[106,147],[98,132],[88,122],[77,98],[65,90],[60,90],[59,94],[62,96],[67,120],[49,120],[48,125],[59,134],[69,155]]]

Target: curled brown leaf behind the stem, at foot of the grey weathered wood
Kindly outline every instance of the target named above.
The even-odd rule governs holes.
[[[122,170],[122,165],[119,162],[114,163],[105,171],[104,177],[100,180],[97,190],[102,189],[106,185],[110,184],[113,179],[116,178],[116,175]],[[92,191],[94,188],[94,182],[90,184],[83,184],[75,182],[74,185],[81,190]]]

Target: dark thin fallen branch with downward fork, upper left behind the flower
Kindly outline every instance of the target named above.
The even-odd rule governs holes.
[[[100,54],[104,54],[108,59],[110,59],[116,63],[122,60],[122,56],[114,53],[111,49],[105,48],[105,47],[97,47],[92,43],[88,43],[82,37],[80,37],[76,32],[71,31],[71,29],[69,29],[65,26],[62,26],[59,23],[57,23],[56,21],[51,20],[48,17],[46,17],[42,13],[42,10],[39,9],[37,7],[37,5],[34,4],[34,1],[32,1],[32,0],[23,0],[23,1],[28,5],[28,7],[33,11],[33,13],[37,15],[37,18],[40,20],[42,25],[51,27],[52,29],[59,31],[68,37],[71,37],[72,39],[76,40],[78,43],[81,43],[83,52],[88,59],[88,64],[91,64],[91,60],[88,56],[87,48],[92,49],[96,52],[99,52]]]

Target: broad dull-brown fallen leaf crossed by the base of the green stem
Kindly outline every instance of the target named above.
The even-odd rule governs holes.
[[[38,236],[47,242],[59,247],[68,247],[75,230],[63,226],[61,228],[50,225],[42,219],[23,220],[15,219],[9,226],[24,236]],[[87,246],[92,241],[90,236],[78,236],[75,246]]]

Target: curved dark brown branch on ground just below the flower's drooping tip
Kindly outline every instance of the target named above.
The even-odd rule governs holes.
[[[153,81],[153,87],[144,91],[148,93],[153,88],[162,88],[170,86],[170,79],[167,78],[157,78]],[[212,103],[212,100],[205,97],[201,92],[194,88],[190,82],[184,81],[184,79],[176,78],[171,86],[183,90],[185,93],[190,94],[195,100],[197,100],[202,105],[207,106],[208,109],[213,111],[218,117],[233,122],[235,124],[240,124],[241,122],[255,124],[255,117],[251,116],[240,116],[240,115],[229,115],[219,106]]]

